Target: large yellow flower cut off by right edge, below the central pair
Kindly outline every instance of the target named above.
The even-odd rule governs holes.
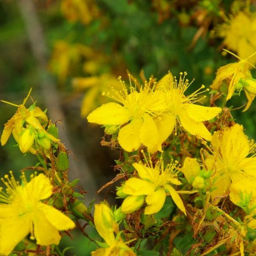
[[[256,198],[256,156],[249,156],[255,144],[248,140],[243,126],[235,124],[229,129],[214,132],[211,140],[213,154],[205,164],[214,172],[212,198],[220,198],[230,192],[230,200],[238,204],[239,192],[252,193]]]

